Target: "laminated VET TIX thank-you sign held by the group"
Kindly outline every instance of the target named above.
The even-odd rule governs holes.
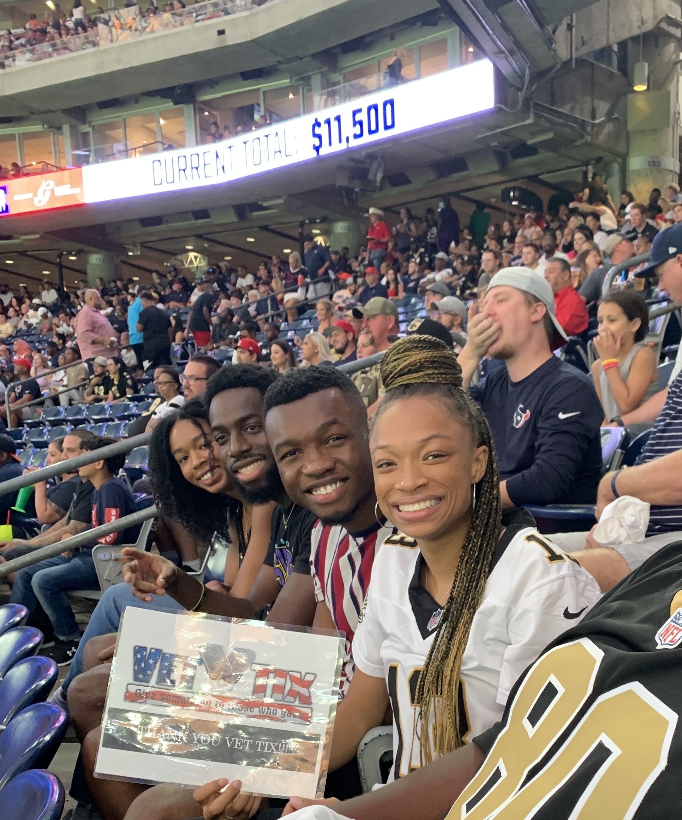
[[[95,776],[321,797],[342,658],[331,632],[128,607]]]

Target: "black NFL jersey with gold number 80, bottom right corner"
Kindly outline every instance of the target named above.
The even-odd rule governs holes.
[[[503,804],[510,818],[574,817],[581,804],[585,818],[682,816],[680,590],[675,541],[554,640],[474,738],[488,756],[448,818],[466,804],[477,817]]]

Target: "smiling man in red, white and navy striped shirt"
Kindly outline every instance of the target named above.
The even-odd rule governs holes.
[[[289,498],[316,514],[311,576],[313,626],[344,632],[345,695],[354,669],[352,637],[370,584],[372,563],[389,522],[375,517],[376,496],[365,405],[355,385],[331,368],[308,367],[275,381],[266,393],[266,434]]]

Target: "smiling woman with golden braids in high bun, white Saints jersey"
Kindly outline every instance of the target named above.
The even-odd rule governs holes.
[[[516,678],[599,589],[529,512],[502,514],[488,422],[443,342],[398,340],[381,379],[370,440],[377,514],[399,532],[372,567],[330,768],[356,754],[390,705],[393,780],[493,726]]]

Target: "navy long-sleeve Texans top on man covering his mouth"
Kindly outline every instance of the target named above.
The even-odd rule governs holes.
[[[520,381],[498,367],[470,392],[488,418],[500,478],[517,507],[595,502],[604,411],[588,376],[550,356]]]

